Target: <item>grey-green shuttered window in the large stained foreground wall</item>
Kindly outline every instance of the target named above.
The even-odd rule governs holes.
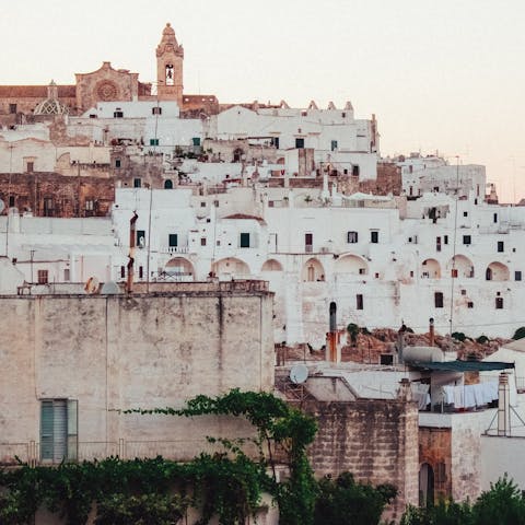
[[[50,463],[78,457],[78,401],[45,399],[40,401],[40,459]]]

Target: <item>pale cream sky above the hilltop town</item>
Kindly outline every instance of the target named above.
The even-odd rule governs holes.
[[[483,164],[525,197],[523,0],[3,0],[0,84],[73,84],[103,61],[155,80],[170,22],[184,91],[222,103],[351,101],[383,156]]]

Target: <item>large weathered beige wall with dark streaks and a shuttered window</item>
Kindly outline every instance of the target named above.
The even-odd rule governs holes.
[[[272,294],[265,290],[185,283],[154,295],[3,296],[0,315],[2,443],[38,443],[40,399],[75,399],[79,458],[118,453],[119,440],[126,457],[188,458],[207,435],[253,429],[237,419],[117,410],[273,386]]]

